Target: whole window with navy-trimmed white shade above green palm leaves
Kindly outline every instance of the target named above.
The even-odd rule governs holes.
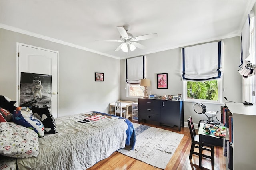
[[[184,101],[222,103],[222,46],[219,41],[182,48]]]

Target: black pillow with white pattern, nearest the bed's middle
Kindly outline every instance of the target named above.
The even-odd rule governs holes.
[[[52,116],[50,109],[48,107],[39,108],[32,106],[33,115],[36,116],[44,124],[44,132],[48,134],[57,133],[55,119]]]

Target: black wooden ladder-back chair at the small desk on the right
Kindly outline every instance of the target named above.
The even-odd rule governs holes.
[[[196,134],[191,116],[188,119],[188,127],[190,130],[190,136],[191,136],[191,148],[190,148],[190,154],[189,154],[189,160],[191,160],[192,154],[199,156],[198,152],[194,152],[194,148],[199,148],[199,136]],[[214,146],[211,144],[202,142],[202,150],[207,150],[211,152],[211,156],[202,154],[202,157],[210,158],[212,162],[212,166],[214,166]]]

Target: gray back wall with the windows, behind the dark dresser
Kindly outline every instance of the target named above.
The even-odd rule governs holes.
[[[225,102],[224,96],[226,96],[228,100],[242,102],[242,77],[238,73],[240,36],[224,39],[223,42],[223,102]],[[182,93],[181,59],[180,48],[146,55],[146,78],[151,80],[151,87],[148,87],[148,93],[151,92],[152,94],[161,96]],[[120,68],[121,99],[138,101],[138,99],[126,97],[125,59],[121,60]],[[158,73],[168,73],[168,89],[157,89],[156,74]],[[195,113],[193,109],[194,104],[194,102],[184,102],[184,125],[187,125],[186,120],[189,116],[192,116],[195,124],[200,120],[206,119],[205,115]],[[205,103],[205,105],[207,111],[218,111],[220,110],[220,106],[224,105],[224,103]],[[220,120],[220,117],[218,117],[218,119]]]

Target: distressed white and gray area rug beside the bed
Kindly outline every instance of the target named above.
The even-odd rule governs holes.
[[[136,132],[134,150],[126,147],[118,152],[154,167],[165,169],[184,134],[138,123],[133,124]]]

